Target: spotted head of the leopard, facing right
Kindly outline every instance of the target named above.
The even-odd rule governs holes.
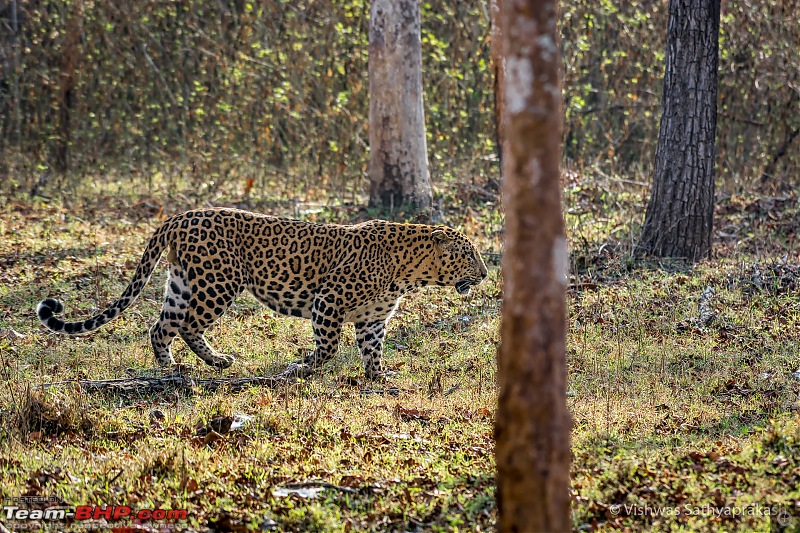
[[[459,294],[468,294],[488,275],[478,249],[458,231],[445,226],[433,228],[433,270],[435,283],[454,286]]]

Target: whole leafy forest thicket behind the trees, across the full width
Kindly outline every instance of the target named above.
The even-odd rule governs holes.
[[[799,7],[723,3],[723,194],[797,179]],[[440,190],[498,177],[488,9],[422,4],[428,151]],[[262,200],[358,202],[368,16],[359,0],[7,1],[3,186],[27,190],[48,171],[137,184],[163,176],[201,193],[251,178]],[[648,176],[666,17],[659,1],[562,4],[567,168]]]

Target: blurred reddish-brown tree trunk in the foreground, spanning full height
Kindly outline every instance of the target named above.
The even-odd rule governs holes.
[[[500,531],[568,531],[567,242],[554,0],[504,2],[502,342],[495,426]]]

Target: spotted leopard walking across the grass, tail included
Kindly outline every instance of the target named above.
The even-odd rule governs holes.
[[[122,295],[89,319],[65,322],[64,304],[39,303],[49,330],[82,335],[120,316],[141,295],[166,250],[167,281],[158,320],[150,328],[156,362],[175,365],[180,336],[216,369],[235,357],[214,350],[206,331],[248,291],[281,315],[310,319],[314,349],[302,364],[321,366],[337,354],[345,323],[353,323],[364,375],[387,378],[386,326],[402,297],[425,286],[455,287],[466,295],[488,275],[472,242],[442,225],[369,220],[317,223],[233,208],[186,211],[166,219],[147,242]]]

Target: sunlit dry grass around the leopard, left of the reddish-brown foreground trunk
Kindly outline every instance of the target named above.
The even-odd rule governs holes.
[[[164,272],[96,333],[67,338],[37,324],[35,305],[45,296],[63,297],[72,317],[103,307],[157,223],[130,211],[89,211],[11,204],[0,218],[3,494],[188,509],[179,529],[491,528],[496,269],[466,299],[426,290],[405,300],[387,340],[396,395],[364,382],[352,326],[321,376],[279,390],[42,391],[53,381],[157,371],[146,330]],[[208,337],[238,362],[212,371],[177,341],[176,358],[196,376],[272,373],[313,345],[308,321],[277,317],[250,297]],[[198,436],[214,418],[237,415],[241,428]],[[328,488],[277,491],[302,484]]]

